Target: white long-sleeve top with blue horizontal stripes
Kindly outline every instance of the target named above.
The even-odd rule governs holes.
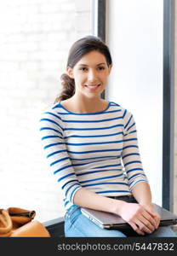
[[[137,183],[148,183],[134,117],[117,103],[109,102],[101,112],[72,113],[58,102],[44,110],[39,124],[44,154],[66,211],[78,189],[131,195]]]

